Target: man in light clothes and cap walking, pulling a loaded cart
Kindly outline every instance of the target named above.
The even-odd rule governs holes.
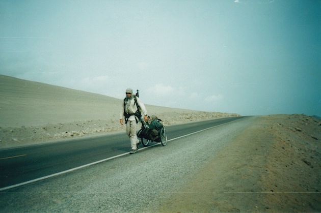
[[[126,89],[126,98],[124,98],[122,104],[122,110],[120,111],[120,124],[126,124],[126,133],[130,138],[131,151],[130,154],[136,153],[140,145],[140,141],[136,135],[136,127],[138,121],[141,119],[142,114],[144,115],[144,120],[147,121],[147,111],[145,105],[141,100],[132,95],[132,89]]]

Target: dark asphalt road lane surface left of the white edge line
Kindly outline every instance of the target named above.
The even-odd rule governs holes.
[[[227,117],[166,127],[168,140],[242,117]],[[153,144],[153,143],[151,143]],[[126,134],[74,139],[0,150],[0,188],[126,154]]]

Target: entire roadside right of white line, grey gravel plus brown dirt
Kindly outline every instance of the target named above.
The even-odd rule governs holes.
[[[318,122],[304,115],[246,117],[0,192],[0,210],[317,212]]]

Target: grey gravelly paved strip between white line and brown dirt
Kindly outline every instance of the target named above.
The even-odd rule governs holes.
[[[0,191],[0,211],[157,212],[254,118],[237,119],[173,139],[166,146],[141,148],[134,155]]]

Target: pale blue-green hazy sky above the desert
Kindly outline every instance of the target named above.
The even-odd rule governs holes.
[[[313,0],[0,0],[0,74],[146,104],[321,116]]]

